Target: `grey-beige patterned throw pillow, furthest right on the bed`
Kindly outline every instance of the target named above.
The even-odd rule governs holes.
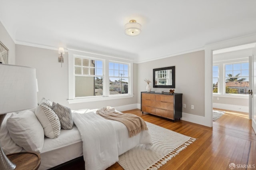
[[[53,102],[51,109],[58,115],[62,129],[69,130],[73,128],[74,123],[70,108]]]

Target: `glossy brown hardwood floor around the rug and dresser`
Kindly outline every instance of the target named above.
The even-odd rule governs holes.
[[[160,170],[229,170],[230,163],[236,164],[236,168],[240,169],[256,169],[256,135],[246,113],[226,111],[220,119],[213,122],[213,128],[186,121],[172,122],[147,113],[142,115],[139,109],[123,113],[138,115],[147,122],[197,138]],[[115,163],[108,170],[123,168]]]

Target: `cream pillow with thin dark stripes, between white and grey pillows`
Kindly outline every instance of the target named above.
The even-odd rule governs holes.
[[[44,128],[44,135],[48,138],[58,138],[60,135],[60,121],[56,113],[46,105],[39,104],[36,117]]]

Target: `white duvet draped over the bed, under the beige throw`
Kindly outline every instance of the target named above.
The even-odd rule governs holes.
[[[86,170],[104,170],[118,161],[118,155],[137,144],[147,144],[148,148],[152,145],[148,130],[129,138],[124,124],[86,111],[73,112],[74,123],[83,141]]]

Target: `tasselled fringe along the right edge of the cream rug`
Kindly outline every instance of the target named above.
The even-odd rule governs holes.
[[[196,138],[190,138],[174,150],[172,150],[170,153],[168,153],[166,156],[163,156],[160,160],[156,161],[153,165],[147,168],[147,170],[158,170],[161,166],[167,163],[168,160],[171,160],[173,157],[175,157],[180,151],[186,149],[186,147],[190,144],[192,144],[194,141],[196,141]]]

